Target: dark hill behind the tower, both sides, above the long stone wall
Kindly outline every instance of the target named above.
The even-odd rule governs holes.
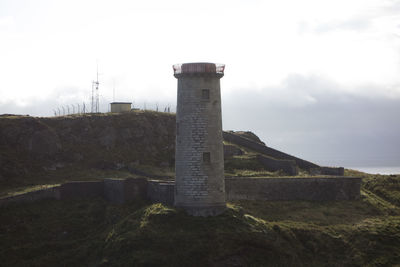
[[[314,163],[266,146],[252,132],[223,136],[227,176],[324,174]],[[6,191],[110,176],[174,179],[174,156],[172,113],[0,116],[0,187]]]

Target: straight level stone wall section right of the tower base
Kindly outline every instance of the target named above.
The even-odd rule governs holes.
[[[355,200],[361,178],[227,178],[227,200]]]

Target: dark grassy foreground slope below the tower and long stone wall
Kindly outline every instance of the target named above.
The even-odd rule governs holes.
[[[0,265],[392,266],[400,199],[378,195],[388,178],[400,183],[370,176],[357,201],[238,201],[211,218],[101,199],[2,207]]]

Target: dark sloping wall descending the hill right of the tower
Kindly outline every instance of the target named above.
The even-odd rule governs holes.
[[[261,154],[264,154],[264,155],[267,155],[267,156],[270,156],[270,157],[273,157],[276,159],[294,160],[296,162],[296,164],[302,169],[309,170],[311,168],[319,167],[318,165],[316,165],[312,162],[296,158],[292,155],[289,155],[289,154],[283,153],[281,151],[278,151],[276,149],[264,146],[260,143],[257,143],[250,139],[235,135],[230,132],[223,132],[223,137],[224,137],[224,140],[226,140],[228,142],[252,149],[258,153],[261,153]]]

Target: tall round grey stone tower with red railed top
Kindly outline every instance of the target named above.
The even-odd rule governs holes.
[[[226,208],[220,78],[224,65],[174,65],[178,79],[175,206],[195,216]]]

